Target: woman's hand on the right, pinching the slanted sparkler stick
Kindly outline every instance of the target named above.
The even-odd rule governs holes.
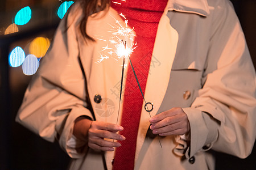
[[[160,136],[183,135],[190,131],[187,114],[181,108],[172,108],[150,118],[150,129]]]

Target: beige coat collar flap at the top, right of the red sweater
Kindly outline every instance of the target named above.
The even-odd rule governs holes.
[[[201,16],[208,16],[210,13],[207,0],[169,0],[167,8],[169,11],[188,12]]]

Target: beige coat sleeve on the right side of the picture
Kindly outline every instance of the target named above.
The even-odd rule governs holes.
[[[256,136],[255,70],[232,4],[219,3],[212,14],[204,86],[184,108],[191,125],[187,155],[212,148],[246,158]]]

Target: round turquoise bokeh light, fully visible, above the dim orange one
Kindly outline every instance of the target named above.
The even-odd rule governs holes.
[[[31,19],[31,8],[26,6],[19,10],[14,18],[14,23],[16,25],[27,24]]]

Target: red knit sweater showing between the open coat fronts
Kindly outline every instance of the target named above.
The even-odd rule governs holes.
[[[112,3],[112,7],[119,14],[125,15],[128,25],[131,28],[134,27],[137,35],[134,40],[137,42],[137,48],[130,58],[144,94],[156,31],[167,0],[126,0],[126,2],[119,0],[116,2],[121,2],[122,5]],[[122,146],[115,151],[113,170],[134,169],[143,97],[130,65],[127,71],[123,102],[121,125],[124,130],[120,134],[125,136],[126,140],[119,141]]]

